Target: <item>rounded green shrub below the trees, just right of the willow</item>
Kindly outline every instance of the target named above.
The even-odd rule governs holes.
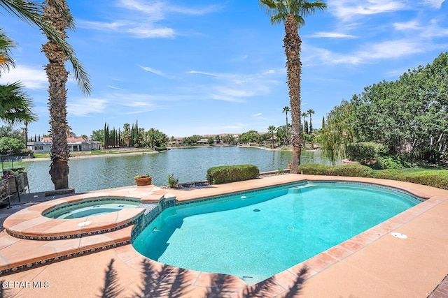
[[[346,156],[350,161],[358,161],[363,165],[376,161],[379,156],[386,153],[386,147],[383,144],[375,142],[358,142],[349,144],[346,150]]]

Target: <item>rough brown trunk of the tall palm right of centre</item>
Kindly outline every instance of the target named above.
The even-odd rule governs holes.
[[[289,14],[285,22],[285,38],[283,46],[286,54],[286,72],[288,77],[289,98],[291,107],[291,144],[293,145],[293,161],[290,172],[297,174],[302,153],[302,130],[300,129],[300,45],[302,40],[297,30],[297,22],[294,15]]]

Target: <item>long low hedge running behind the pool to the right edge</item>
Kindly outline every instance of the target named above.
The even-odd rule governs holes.
[[[369,177],[390,179],[423,184],[442,189],[448,189],[448,170],[419,169],[386,169],[372,170],[365,165],[319,165],[316,163],[302,163],[299,172],[311,175]]]

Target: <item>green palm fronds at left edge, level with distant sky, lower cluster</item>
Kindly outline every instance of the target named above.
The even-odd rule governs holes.
[[[20,82],[0,85],[0,120],[10,125],[37,120],[31,112],[31,99],[23,88]]]

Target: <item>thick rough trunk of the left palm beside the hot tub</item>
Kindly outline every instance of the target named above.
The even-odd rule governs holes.
[[[61,9],[66,8],[65,0],[45,0],[47,5],[43,8],[43,15],[50,22],[51,27],[59,31],[66,38],[65,29],[68,27]],[[50,130],[52,135],[51,145],[51,181],[56,189],[69,187],[69,146],[67,145],[67,122],[66,122],[66,95],[65,84],[69,72],[66,71],[64,62],[67,61],[66,54],[59,45],[50,39],[43,45],[42,49],[48,59],[45,71],[48,77],[48,105],[50,109]]]

